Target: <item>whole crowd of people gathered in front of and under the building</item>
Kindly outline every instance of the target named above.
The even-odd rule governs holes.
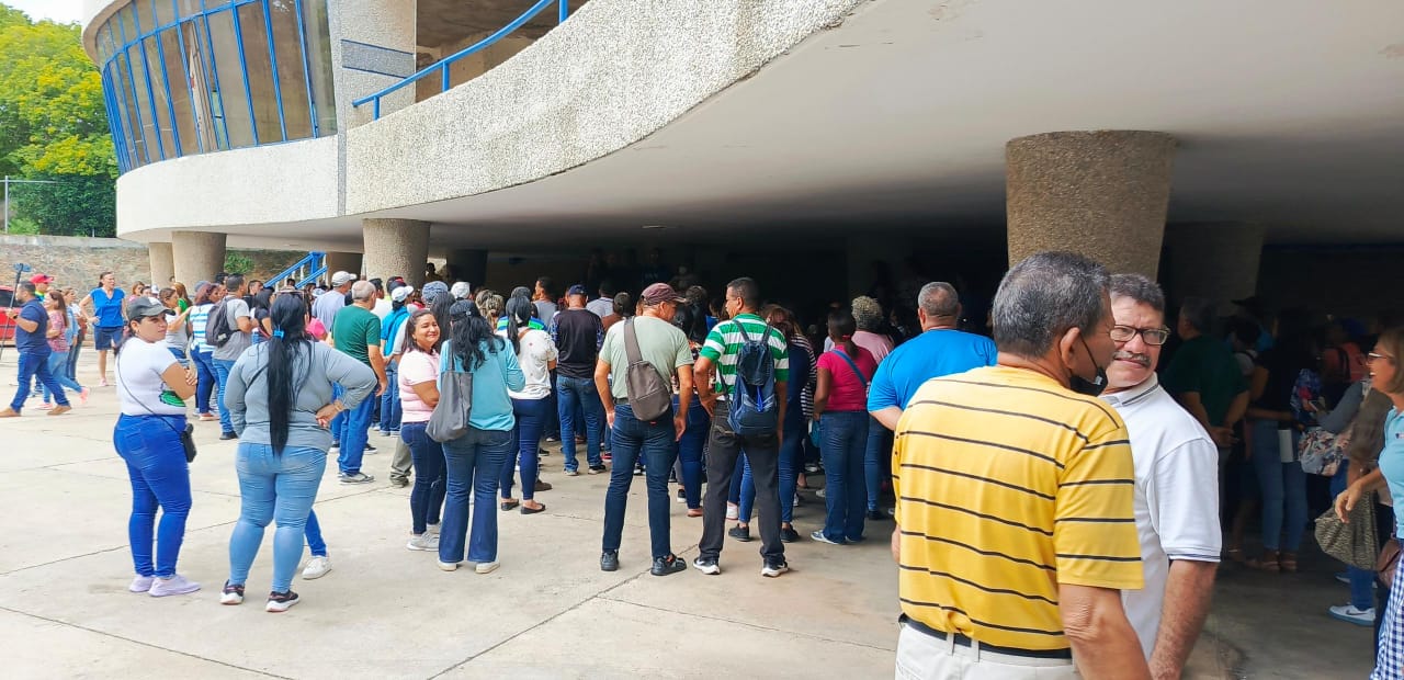
[[[432,268],[420,289],[345,271],[277,289],[218,275],[192,299],[176,282],[125,292],[104,273],[81,301],[37,275],[10,312],[20,389],[0,416],[18,416],[35,381],[51,414],[70,409],[66,391],[86,400],[73,362],[91,326],[104,386],[115,354],[131,590],[160,597],[199,589],[177,572],[194,399],[198,420],[239,441],[220,601],[243,603],[274,524],[267,611],[299,601],[299,565],[305,579],[331,569],[312,507],[331,455],[341,483],[373,482],[372,431],[393,437],[389,482],[413,485],[406,548],[449,572],[500,568],[497,513],[546,511],[543,440],[560,443],[563,476],[609,475],[607,572],[639,476],[651,575],[688,568],[670,544],[675,497],[701,518],[696,570],[722,573],[727,537],[754,530],[760,573],[781,576],[803,540],[799,490],[821,471],[809,540],[859,544],[896,524],[899,677],[1178,677],[1221,555],[1297,569],[1311,503],[1300,450],[1320,433],[1348,454],[1330,469],[1335,511],[1377,504],[1382,542],[1404,534],[1390,511],[1404,495],[1404,332],[1383,323],[1269,319],[1257,299],[1226,316],[1196,298],[1170,309],[1150,278],[1070,253],[1005,274],[993,337],[941,281],[903,302],[910,323],[873,291],[806,327],[751,278],[712,298],[656,254],[633,288],[607,278],[621,271],[592,259],[562,294],[542,277],[505,296]],[[1258,507],[1264,549],[1250,558]],[[1401,677],[1404,589],[1373,590],[1356,566],[1341,577],[1351,601],[1330,614],[1380,629],[1375,677]]]

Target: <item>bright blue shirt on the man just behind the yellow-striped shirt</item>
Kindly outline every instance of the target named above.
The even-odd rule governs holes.
[[[972,368],[994,365],[994,340],[960,330],[928,330],[907,340],[878,364],[868,410],[889,406],[907,409],[907,402],[924,382]]]

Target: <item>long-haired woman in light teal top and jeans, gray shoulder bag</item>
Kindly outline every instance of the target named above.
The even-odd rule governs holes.
[[[444,443],[448,466],[448,495],[444,502],[444,528],[439,534],[439,569],[452,572],[463,562],[463,542],[468,540],[468,561],[476,562],[477,573],[497,569],[497,513],[493,497],[498,476],[507,466],[512,448],[512,429],[517,416],[508,389],[526,386],[526,377],[517,365],[517,354],[503,339],[493,334],[493,326],[483,319],[477,305],[455,302],[449,309],[451,340],[439,355],[439,392],[444,378],[453,371],[473,374],[473,409],[469,429],[462,437]],[[473,525],[469,538],[469,489],[473,496]]]

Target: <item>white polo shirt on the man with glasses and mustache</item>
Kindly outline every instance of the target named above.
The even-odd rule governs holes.
[[[1161,386],[1102,395],[1126,421],[1136,462],[1136,531],[1146,587],[1123,590],[1126,617],[1150,658],[1172,559],[1219,562],[1219,448]]]

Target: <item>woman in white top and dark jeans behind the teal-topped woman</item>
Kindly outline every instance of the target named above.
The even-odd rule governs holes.
[[[512,398],[512,413],[517,416],[517,427],[512,437],[517,440],[517,455],[522,475],[522,514],[536,514],[546,506],[536,503],[532,497],[535,492],[545,492],[550,485],[536,479],[536,452],[541,447],[541,430],[546,421],[546,409],[550,405],[550,371],[556,368],[556,343],[545,330],[529,326],[535,308],[524,296],[514,296],[507,301],[507,330],[504,337],[517,353],[517,362],[526,375],[526,386],[519,392],[508,391]],[[512,465],[503,466],[501,509],[511,510],[518,506],[512,497]]]

